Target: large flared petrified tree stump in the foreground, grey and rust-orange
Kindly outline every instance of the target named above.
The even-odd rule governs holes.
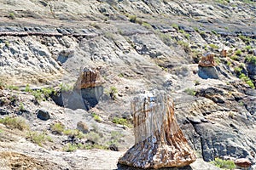
[[[135,145],[119,158],[120,164],[141,168],[183,167],[195,161],[166,94],[142,95],[131,102]]]

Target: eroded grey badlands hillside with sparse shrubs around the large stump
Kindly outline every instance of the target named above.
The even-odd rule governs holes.
[[[256,169],[255,86],[255,1],[0,0],[1,170],[131,169],[131,99],[154,90],[197,156],[179,169]]]

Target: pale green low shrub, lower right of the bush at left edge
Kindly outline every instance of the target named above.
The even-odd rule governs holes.
[[[27,133],[26,139],[29,139],[32,141],[32,143],[38,144],[39,146],[42,146],[47,141],[52,142],[52,139],[49,137],[49,135],[45,133],[38,133],[36,131]]]

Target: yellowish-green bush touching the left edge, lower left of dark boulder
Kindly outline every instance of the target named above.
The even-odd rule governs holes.
[[[0,123],[3,123],[6,127],[9,127],[12,129],[17,128],[20,131],[29,129],[28,124],[26,123],[25,119],[22,117],[6,116],[3,119],[0,119]]]

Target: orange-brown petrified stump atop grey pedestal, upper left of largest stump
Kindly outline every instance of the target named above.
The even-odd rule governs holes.
[[[95,88],[101,86],[103,83],[98,69],[85,67],[75,84],[75,88]]]

